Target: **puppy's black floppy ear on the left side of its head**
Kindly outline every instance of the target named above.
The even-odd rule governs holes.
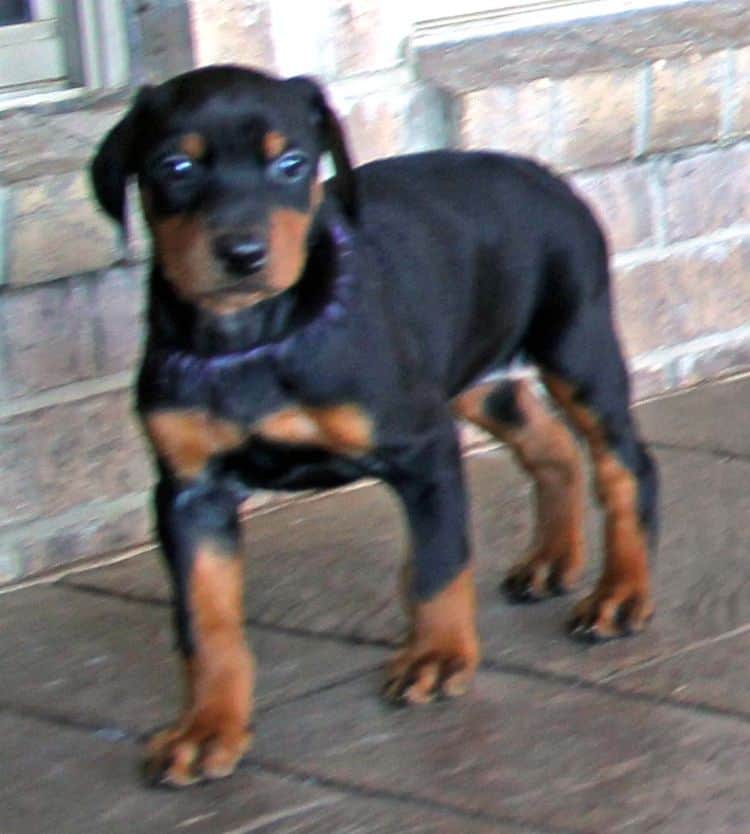
[[[119,224],[124,242],[128,231],[125,191],[128,179],[136,171],[137,122],[150,89],[143,87],[140,90],[130,110],[104,137],[91,160],[91,183],[96,199]]]

